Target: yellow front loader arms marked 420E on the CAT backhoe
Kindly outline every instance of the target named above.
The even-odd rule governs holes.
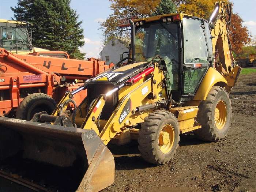
[[[151,69],[148,69],[145,69],[144,72],[147,71],[148,74],[153,72]],[[145,110],[144,112],[136,112],[137,107],[145,106],[147,104],[157,106],[156,103],[160,100],[160,98],[159,94],[156,93],[156,90],[159,92],[159,89],[163,89],[159,85],[164,78],[163,73],[159,72],[158,64],[154,64],[154,72],[150,77],[144,75],[143,72],[138,76],[140,76],[141,79],[136,83],[133,82],[130,84],[130,86],[125,86],[122,90],[119,88],[113,89],[115,91],[120,90],[119,96],[121,99],[118,102],[118,105],[116,106],[112,115],[108,121],[106,121],[105,125],[102,126],[103,128],[99,132],[99,138],[101,138],[104,144],[108,144],[109,141],[113,139],[117,133],[120,133],[126,129],[125,127],[132,127],[138,123],[142,123],[144,118],[148,116],[148,113],[152,111],[149,109]],[[148,100],[148,96],[150,94],[152,94],[153,97]],[[106,98],[109,95],[109,93],[106,93],[98,97],[90,109],[89,114],[84,120],[81,128],[94,130],[97,129],[95,120],[102,112]]]

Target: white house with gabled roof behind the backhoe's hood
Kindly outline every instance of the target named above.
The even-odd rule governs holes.
[[[106,61],[106,65],[109,65],[111,62],[116,64],[122,59],[123,52],[129,51],[129,43],[118,38],[113,38],[106,44],[106,46],[99,53],[101,59]],[[127,57],[128,53],[124,53],[124,57]],[[123,61],[124,63],[127,62]]]

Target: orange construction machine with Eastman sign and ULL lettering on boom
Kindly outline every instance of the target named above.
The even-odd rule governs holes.
[[[69,59],[61,51],[22,55],[0,48],[0,116],[30,120],[38,111],[51,113],[66,91],[108,68],[105,61]],[[71,107],[79,105],[85,95],[85,90],[76,94]]]

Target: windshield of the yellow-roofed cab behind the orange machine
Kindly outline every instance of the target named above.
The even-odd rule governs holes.
[[[7,50],[11,50],[12,47],[15,51],[16,48],[19,51],[27,51],[31,49],[31,46],[21,45],[30,44],[29,33],[26,28],[21,27],[10,27],[6,26],[6,23],[1,23],[1,38],[0,46]],[[18,45],[15,45],[18,44]]]

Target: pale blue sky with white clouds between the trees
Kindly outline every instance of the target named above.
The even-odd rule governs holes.
[[[244,20],[252,35],[256,35],[256,0],[231,0],[234,3],[233,12],[238,12]],[[13,12],[10,7],[17,5],[18,0],[0,0],[0,18],[11,19]],[[102,48],[102,32],[99,30],[98,21],[104,21],[110,10],[109,0],[71,0],[71,7],[79,14],[79,20],[83,20],[84,41],[86,44],[81,48],[87,53],[86,57],[98,57]]]

